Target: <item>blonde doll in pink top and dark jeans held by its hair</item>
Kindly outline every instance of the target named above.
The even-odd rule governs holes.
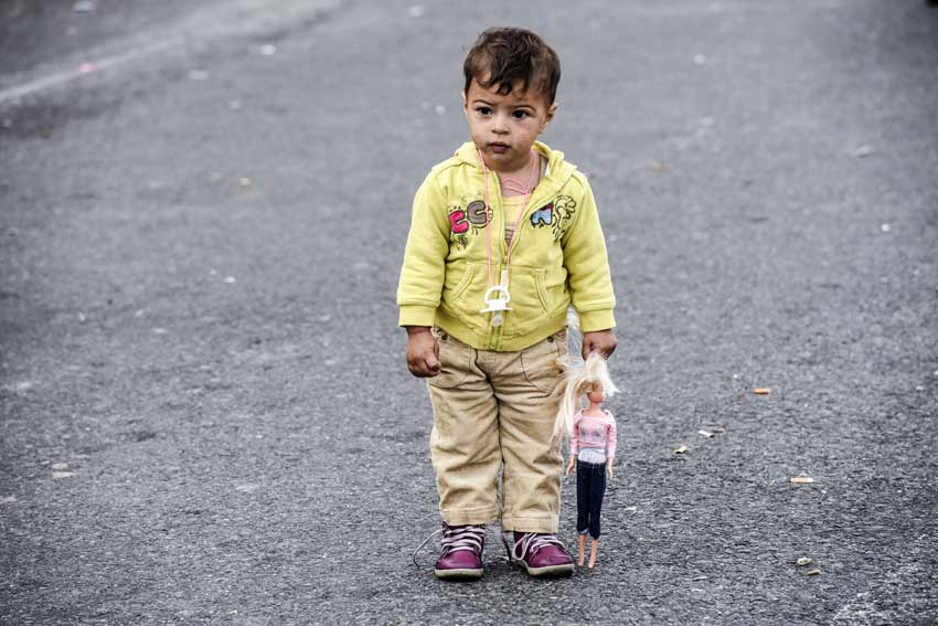
[[[599,513],[606,494],[606,478],[612,477],[616,455],[616,420],[601,404],[618,389],[609,378],[606,360],[591,352],[586,361],[564,364],[559,385],[561,407],[554,428],[556,435],[569,436],[569,463],[566,475],[576,467],[576,532],[577,564],[586,556],[586,535],[589,534],[589,569],[596,566],[599,550]],[[586,395],[589,406],[583,409]]]

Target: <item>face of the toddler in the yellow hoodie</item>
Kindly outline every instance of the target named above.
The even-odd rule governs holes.
[[[497,87],[487,89],[472,81],[469,93],[462,94],[462,108],[469,135],[486,165],[498,172],[515,172],[530,162],[531,147],[547,128],[557,105],[547,106],[535,89],[523,93],[514,88],[502,96]]]

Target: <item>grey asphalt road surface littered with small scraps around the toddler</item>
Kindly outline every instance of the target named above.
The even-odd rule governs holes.
[[[71,6],[0,8],[0,623],[938,624],[938,10]],[[620,454],[595,572],[445,584],[394,291],[495,23],[564,64]]]

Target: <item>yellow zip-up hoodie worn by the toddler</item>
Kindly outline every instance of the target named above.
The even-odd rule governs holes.
[[[593,191],[563,152],[541,142],[547,172],[519,220],[509,267],[511,310],[492,326],[484,295],[504,267],[505,215],[498,174],[484,178],[471,142],[430,170],[414,198],[414,212],[397,287],[401,326],[438,326],[480,350],[533,346],[566,325],[573,304],[584,332],[616,326],[616,298],[606,242]],[[491,233],[491,261],[488,233]],[[492,283],[489,282],[491,267]]]

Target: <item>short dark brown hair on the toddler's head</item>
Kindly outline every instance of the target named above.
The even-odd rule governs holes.
[[[520,81],[522,92],[534,87],[550,106],[557,96],[561,60],[554,49],[526,29],[493,28],[482,32],[472,44],[462,63],[462,73],[466,94],[473,78],[487,89],[497,86],[495,93],[503,96]]]

